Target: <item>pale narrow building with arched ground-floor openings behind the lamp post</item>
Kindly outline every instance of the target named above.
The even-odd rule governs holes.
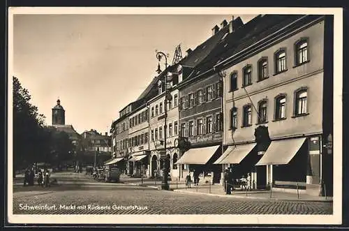
[[[175,140],[178,138],[178,75],[168,76],[168,93],[171,95],[170,100],[165,100],[165,75],[169,75],[168,71],[176,68],[172,66],[163,71],[158,80],[158,95],[148,101],[149,108],[149,150],[151,177],[162,176],[163,158],[165,154],[169,162],[169,174],[172,179],[179,177],[179,169],[175,164],[179,159],[179,149],[174,147]],[[166,105],[167,103],[167,105]],[[165,124],[165,107],[167,110]],[[167,128],[165,128],[167,126]],[[166,131],[166,150],[164,147]]]

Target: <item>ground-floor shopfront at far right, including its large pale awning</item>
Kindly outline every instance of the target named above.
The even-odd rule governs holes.
[[[267,182],[276,191],[320,193],[320,137],[274,140],[257,166],[267,167]]]

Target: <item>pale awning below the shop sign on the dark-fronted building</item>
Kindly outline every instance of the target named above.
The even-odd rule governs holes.
[[[175,164],[205,165],[219,148],[219,145],[189,149]]]

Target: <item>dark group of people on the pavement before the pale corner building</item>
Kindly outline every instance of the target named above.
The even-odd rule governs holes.
[[[232,190],[235,190],[237,184],[241,185],[242,189],[251,190],[251,174],[248,172],[247,177],[244,175],[240,179],[235,179],[232,172],[232,168],[228,168],[224,172],[224,191],[225,194],[232,194]]]

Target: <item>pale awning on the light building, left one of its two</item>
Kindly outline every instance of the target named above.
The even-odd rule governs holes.
[[[218,164],[242,162],[242,160],[252,151],[255,145],[257,144],[239,144],[232,146],[232,149],[230,149],[231,151],[229,152],[228,156],[223,158]],[[229,148],[227,149],[227,151],[229,151]]]

